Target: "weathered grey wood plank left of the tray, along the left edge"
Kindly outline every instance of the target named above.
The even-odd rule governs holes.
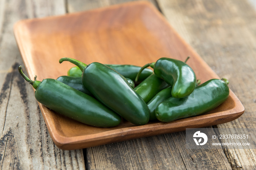
[[[64,14],[65,1],[0,5],[0,169],[85,169],[82,150],[60,150],[50,138],[33,89],[18,73],[23,62],[13,35],[20,19]]]

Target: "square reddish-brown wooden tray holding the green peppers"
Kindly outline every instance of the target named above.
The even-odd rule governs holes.
[[[41,19],[22,20],[14,26],[15,38],[30,78],[38,80],[66,75],[69,62],[133,64],[143,66],[160,57],[184,61],[202,82],[219,78],[206,62],[177,34],[150,3],[137,1],[91,11]],[[31,87],[32,88],[32,87]],[[54,143],[74,150],[134,138],[184,131],[222,124],[244,113],[244,107],[230,90],[230,96],[213,111],[170,123],[152,122],[135,126],[127,121],[113,128],[98,128],[65,118],[39,104]]]

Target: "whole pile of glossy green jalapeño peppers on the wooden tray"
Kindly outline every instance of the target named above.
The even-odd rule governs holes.
[[[59,60],[63,61],[76,66],[56,80],[30,80],[22,66],[19,73],[35,89],[39,103],[97,127],[114,127],[122,118],[144,125],[196,116],[218,107],[229,96],[227,80],[212,79],[198,85],[192,68],[177,59],[159,58],[143,67]]]

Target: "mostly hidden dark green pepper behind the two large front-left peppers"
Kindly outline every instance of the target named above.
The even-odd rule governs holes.
[[[64,84],[71,86],[72,88],[77,89],[85,94],[88,94],[89,96],[93,96],[93,94],[91,94],[91,92],[83,86],[81,77],[60,76],[56,80],[63,82]],[[129,78],[126,78],[126,80],[128,81],[129,85],[134,88],[134,82]]]

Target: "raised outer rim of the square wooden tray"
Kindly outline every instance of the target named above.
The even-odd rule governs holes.
[[[24,47],[22,46],[22,40],[20,40],[20,27],[22,27],[23,24],[26,24],[27,22],[33,22],[33,21],[38,21],[38,20],[45,20],[45,19],[54,19],[54,18],[59,18],[59,17],[65,17],[65,16],[70,16],[70,15],[78,15],[78,14],[82,14],[82,13],[86,13],[86,12],[91,12],[91,11],[102,11],[105,9],[113,9],[113,8],[118,8],[118,7],[125,7],[126,5],[146,5],[147,7],[151,8],[154,12],[155,15],[158,16],[159,19],[161,19],[162,22],[164,22],[165,24],[167,24],[167,26],[170,27],[170,30],[176,34],[176,36],[179,38],[179,40],[182,42],[182,44],[186,45],[188,47],[188,49],[191,51],[191,53],[193,55],[196,56],[197,59],[199,59],[199,61],[201,62],[201,64],[205,64],[208,66],[208,64],[199,56],[199,54],[196,53],[196,51],[180,36],[180,34],[178,34],[178,32],[167,22],[167,20],[164,18],[163,15],[161,15],[161,13],[159,13],[159,11],[154,7],[153,4],[151,4],[148,1],[134,1],[134,2],[127,2],[127,3],[123,3],[123,4],[116,4],[116,5],[111,5],[109,7],[102,7],[102,8],[97,8],[97,9],[91,9],[88,11],[82,11],[82,12],[74,12],[74,13],[68,13],[68,14],[64,14],[64,15],[57,15],[57,16],[48,16],[48,17],[44,17],[44,18],[35,18],[35,19],[24,19],[24,20],[20,20],[18,22],[16,22],[14,24],[14,35],[15,35],[15,39],[16,42],[18,44],[20,53],[22,55],[22,59],[23,62],[25,64],[25,67],[27,69],[27,72],[30,76],[30,71],[29,71],[29,67],[27,67],[27,62],[25,60],[26,56],[26,52]],[[208,68],[208,71],[210,71],[216,78],[219,78],[218,75],[210,68]],[[31,77],[31,76],[30,76]],[[206,114],[206,115],[199,115],[199,116],[195,116],[195,117],[188,117],[185,119],[180,119],[180,120],[175,120],[169,123],[162,123],[162,122],[158,122],[158,123],[152,123],[152,124],[146,124],[146,125],[140,125],[140,126],[133,126],[133,127],[125,127],[125,128],[119,128],[119,129],[115,129],[115,130],[110,130],[110,131],[105,131],[105,132],[99,132],[96,134],[89,134],[89,135],[81,135],[81,136],[63,136],[61,134],[58,133],[58,131],[56,130],[55,125],[51,126],[49,125],[49,121],[47,119],[47,117],[45,116],[45,112],[46,112],[46,107],[44,105],[42,105],[41,103],[39,104],[39,107],[42,111],[42,115],[44,117],[45,123],[46,123],[46,127],[48,128],[49,134],[53,139],[53,142],[56,144],[57,147],[64,149],[64,150],[74,150],[74,149],[80,149],[80,148],[87,148],[87,147],[93,147],[93,146],[98,146],[101,144],[108,144],[108,143],[113,143],[113,142],[119,142],[119,141],[124,141],[124,140],[129,140],[129,139],[135,139],[134,137],[129,137],[132,136],[133,134],[140,134],[143,132],[142,136],[136,137],[136,138],[142,138],[142,137],[147,137],[147,136],[153,136],[153,135],[157,135],[157,134],[166,134],[166,133],[171,133],[171,132],[178,132],[178,131],[184,131],[185,128],[200,128],[200,127],[205,127],[204,124],[199,123],[198,120],[208,120],[211,118],[220,118],[224,117],[224,116],[229,116],[229,115],[233,115],[234,117],[231,117],[229,119],[225,119],[225,121],[221,120],[219,122],[211,122],[210,125],[216,125],[216,124],[220,124],[221,123],[226,123],[232,120],[237,119],[238,117],[240,117],[244,111],[245,108],[242,105],[241,101],[237,98],[237,96],[231,91],[230,89],[230,95],[229,95],[234,101],[235,106],[231,109],[227,111],[222,111],[222,112],[217,112],[217,113],[211,113],[211,114]],[[232,112],[232,113],[230,113]],[[233,113],[235,112],[235,113]],[[173,128],[171,128],[173,125],[175,124],[182,124],[183,121],[189,122],[192,121],[193,123],[196,122],[196,124],[193,125],[189,125],[187,127],[179,127],[180,130],[173,130]],[[163,127],[166,127],[165,129],[167,129],[167,131],[164,131],[163,133],[159,132],[157,134],[153,133],[155,130],[152,131],[152,128],[158,128],[157,130],[162,130]],[[169,128],[168,128],[169,127]],[[177,127],[176,127],[177,128]],[[120,131],[123,130],[123,131]],[[147,133],[145,133],[147,132]],[[113,140],[113,138],[118,137],[118,136],[123,136],[122,139],[120,140]],[[95,141],[95,140],[102,140],[102,139],[112,139],[110,140],[110,142],[98,142],[96,144],[88,144],[91,141]],[[123,140],[124,139],[124,140]],[[84,144],[85,147],[77,147],[77,144]]]

